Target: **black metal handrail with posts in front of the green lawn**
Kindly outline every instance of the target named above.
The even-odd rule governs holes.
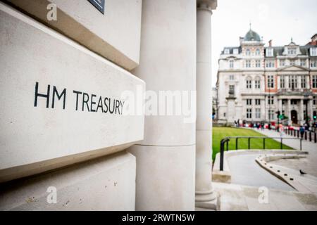
[[[223,171],[223,159],[225,155],[225,145],[227,151],[229,150],[230,139],[235,139],[235,149],[238,150],[239,139],[248,139],[248,149],[251,149],[251,139],[263,139],[263,149],[266,149],[266,139],[280,139],[280,149],[283,149],[283,139],[297,139],[299,140],[299,149],[302,150],[302,139],[299,138],[286,138],[279,136],[228,136],[220,141],[220,171]]]

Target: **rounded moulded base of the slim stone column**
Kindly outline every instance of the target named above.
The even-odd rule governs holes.
[[[213,189],[211,191],[196,191],[195,207],[219,210],[218,195]]]

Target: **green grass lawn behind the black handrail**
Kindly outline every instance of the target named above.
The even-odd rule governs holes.
[[[216,154],[220,151],[220,141],[227,136],[265,136],[251,129],[232,128],[232,127],[213,127],[213,160]],[[251,139],[251,149],[263,149],[262,139]],[[239,139],[239,149],[248,148],[248,139]],[[229,142],[229,150],[235,149],[235,139]],[[280,149],[280,142],[266,139],[266,149]],[[289,146],[283,145],[283,149],[292,149]]]

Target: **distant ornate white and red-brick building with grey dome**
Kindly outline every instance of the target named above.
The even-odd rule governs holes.
[[[317,34],[304,46],[273,46],[249,30],[218,60],[218,120],[313,122],[317,109]],[[280,116],[279,116],[280,115]],[[306,119],[307,115],[307,119]]]

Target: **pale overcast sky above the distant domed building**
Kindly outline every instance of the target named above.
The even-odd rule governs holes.
[[[251,29],[268,45],[307,44],[317,33],[317,0],[218,0],[211,16],[212,76],[216,86],[218,58],[225,46],[240,46]]]

